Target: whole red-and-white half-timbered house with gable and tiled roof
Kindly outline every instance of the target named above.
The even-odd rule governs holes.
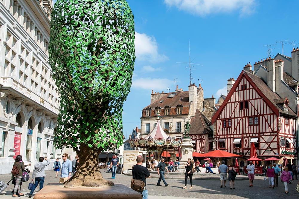
[[[216,148],[242,155],[239,161],[245,162],[254,142],[259,158],[293,159],[297,115],[288,98],[281,98],[252,73],[242,70],[212,117]]]

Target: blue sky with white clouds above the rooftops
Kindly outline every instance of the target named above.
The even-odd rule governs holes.
[[[281,39],[299,43],[299,1],[127,0],[135,19],[136,61],[131,92],[123,106],[123,132],[140,128],[141,110],[150,94],[188,89],[190,40],[195,66],[192,83],[202,80],[205,98],[226,94],[227,79],[237,78],[246,63],[282,53]],[[299,44],[297,45],[299,47]],[[284,45],[291,56],[292,45]],[[273,57],[273,56],[272,56]]]

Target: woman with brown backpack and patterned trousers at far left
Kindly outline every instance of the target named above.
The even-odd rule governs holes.
[[[13,169],[11,170],[12,179],[15,178],[16,180],[16,184],[13,189],[13,198],[17,198],[24,195],[21,193],[21,185],[20,185],[24,170],[25,170],[25,164],[22,161],[22,155],[17,155],[15,159],[15,163],[13,163]],[[16,195],[17,191],[19,192],[19,195]]]

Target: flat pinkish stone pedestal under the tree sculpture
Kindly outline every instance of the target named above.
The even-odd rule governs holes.
[[[68,199],[92,199],[92,198],[132,198],[142,199],[141,193],[130,189],[122,184],[115,184],[115,186],[106,186],[103,188],[94,188],[86,186],[75,186],[64,188],[59,183],[49,183],[44,186],[36,195],[34,199],[47,198],[68,198]]]

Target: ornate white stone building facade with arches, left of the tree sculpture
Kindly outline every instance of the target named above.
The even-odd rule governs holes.
[[[51,11],[51,0],[0,0],[0,174],[18,154],[32,165],[74,158],[53,145],[60,94],[48,62]]]

